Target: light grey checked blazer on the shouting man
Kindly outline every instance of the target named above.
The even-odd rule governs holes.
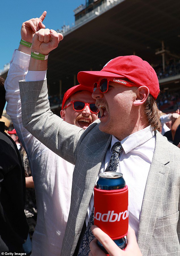
[[[53,115],[46,82],[20,81],[19,84],[24,127],[60,157],[76,164],[61,252],[62,256],[71,256],[111,135],[99,130],[99,120],[83,130]],[[143,256],[179,255],[179,190],[180,150],[156,132],[156,148],[146,182],[138,231],[138,245]]]

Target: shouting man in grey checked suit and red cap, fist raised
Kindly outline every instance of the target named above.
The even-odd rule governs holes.
[[[35,33],[31,72],[46,70],[47,60],[39,61],[36,53],[48,55],[60,40],[62,35],[53,30]],[[137,56],[120,56],[101,71],[79,72],[78,81],[93,86],[92,96],[101,111],[100,120],[85,131],[52,114],[46,81],[19,83],[26,129],[75,164],[61,255],[77,254],[81,245],[81,255],[89,252],[91,239],[83,244],[83,223],[88,223],[93,188],[98,174],[108,166],[116,142],[122,145],[117,171],[123,173],[129,187],[129,223],[143,256],[179,255],[180,154],[159,133],[155,101],[159,84],[154,69]]]

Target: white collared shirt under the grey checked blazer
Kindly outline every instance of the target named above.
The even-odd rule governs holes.
[[[119,140],[112,136],[111,145],[106,152],[99,173],[106,170],[112,155],[112,147],[117,141]],[[128,186],[129,224],[135,230],[137,237],[146,181],[156,144],[155,132],[152,131],[151,126],[148,126],[143,130],[130,134],[121,141],[121,144],[123,149],[120,155],[117,172],[123,174],[124,180]],[[91,215],[93,205],[94,194],[91,197],[88,207],[86,223],[88,217]]]

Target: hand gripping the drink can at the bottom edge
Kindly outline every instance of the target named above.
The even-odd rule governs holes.
[[[89,256],[106,256],[106,254],[97,245],[97,239],[102,243],[110,256],[142,256],[136,241],[135,232],[130,226],[127,233],[127,246],[124,251],[121,250],[99,227],[95,225],[92,226],[92,232],[96,238],[90,243],[91,251],[89,252]]]

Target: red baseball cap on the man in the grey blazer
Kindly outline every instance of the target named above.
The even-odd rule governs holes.
[[[135,55],[114,58],[106,63],[101,71],[81,71],[78,73],[78,82],[84,86],[93,87],[100,77],[122,80],[127,78],[134,83],[132,86],[147,86],[154,99],[160,92],[155,70],[147,61]]]

